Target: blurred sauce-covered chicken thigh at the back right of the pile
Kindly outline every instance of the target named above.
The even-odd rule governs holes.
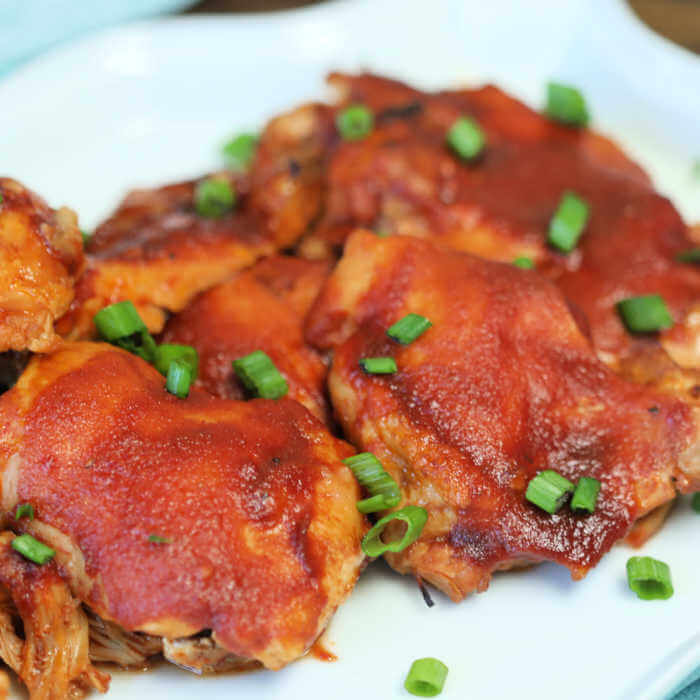
[[[628,334],[615,303],[658,293],[676,321],[661,336],[664,350],[680,367],[700,369],[700,270],[675,260],[692,247],[690,232],[611,141],[557,124],[490,85],[425,93],[368,74],[333,74],[330,83],[340,93],[336,110],[366,104],[375,124],[357,141],[326,139],[325,196],[301,244],[304,255],[333,255],[364,226],[504,262],[530,257],[586,317],[601,359],[623,373],[619,363],[627,357],[660,359],[653,352],[659,339]],[[462,115],[476,119],[487,137],[483,154],[468,163],[445,138]],[[547,245],[566,190],[591,207],[568,256]],[[649,372],[657,373],[653,364]],[[695,378],[686,383],[694,386]]]

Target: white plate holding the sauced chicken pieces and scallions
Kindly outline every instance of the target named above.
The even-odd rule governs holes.
[[[534,105],[548,78],[578,84],[597,126],[700,219],[700,61],[616,0],[336,0],[108,31],[0,84],[0,172],[91,227],[127,188],[217,167],[231,133],[322,96],[329,69],[361,67],[428,87],[493,80]],[[411,661],[435,656],[445,698],[660,698],[700,664],[699,532],[686,500],[643,549],[671,565],[668,601],[628,591],[624,547],[580,583],[544,565],[459,605],[434,594],[432,609],[375,564],[327,634],[337,662],[206,679],[159,667],[115,674],[109,697],[405,698]]]

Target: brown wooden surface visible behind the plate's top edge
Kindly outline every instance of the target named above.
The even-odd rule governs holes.
[[[322,0],[202,0],[192,12],[272,12]],[[425,0],[426,2],[428,0]],[[653,29],[700,53],[700,0],[628,0]]]

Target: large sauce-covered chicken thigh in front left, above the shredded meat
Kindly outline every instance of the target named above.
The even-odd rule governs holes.
[[[278,669],[364,562],[352,450],[295,401],[180,400],[139,358],[67,343],[32,359],[0,424],[3,512],[32,503],[13,527],[50,544],[73,595],[127,631],[211,630]]]

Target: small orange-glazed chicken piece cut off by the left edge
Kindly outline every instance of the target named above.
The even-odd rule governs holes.
[[[60,343],[54,320],[73,300],[82,265],[75,214],[0,177],[0,352],[47,352]]]

